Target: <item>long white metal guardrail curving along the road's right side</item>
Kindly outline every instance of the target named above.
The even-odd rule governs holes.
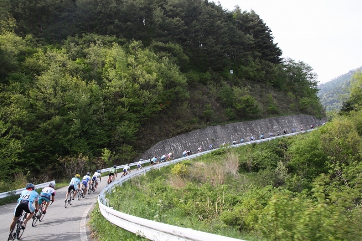
[[[284,136],[293,136],[293,135],[297,135],[297,134],[302,134],[302,133],[305,133],[305,132],[308,132],[311,130],[313,130],[313,129],[274,136],[274,137],[268,137],[265,139],[260,139],[260,140],[255,140],[255,141],[248,141],[248,142],[244,142],[244,143],[231,145],[231,146],[228,146],[227,148],[239,147],[241,145],[248,145],[248,144],[258,143],[258,142],[263,142],[263,141],[270,141],[270,140],[273,140],[276,138],[281,138]],[[221,148],[223,148],[223,147],[221,147]],[[160,169],[161,167],[175,164],[175,163],[181,162],[183,160],[190,160],[192,158],[196,158],[198,156],[205,155],[205,154],[215,151],[217,149],[220,149],[220,148],[203,151],[201,153],[195,153],[190,156],[181,157],[181,158],[167,161],[164,163],[159,163],[154,166],[148,166],[139,171],[131,172],[129,175],[121,178],[118,181],[112,182],[106,188],[104,188],[98,196],[99,209],[100,209],[103,217],[106,218],[111,223],[121,227],[122,229],[125,229],[125,230],[132,232],[134,234],[137,234],[139,236],[145,237],[152,241],[161,241],[161,240],[162,241],[181,241],[181,240],[182,241],[221,241],[221,240],[222,241],[242,241],[239,239],[205,233],[205,232],[196,231],[196,230],[189,229],[189,228],[181,228],[178,226],[163,224],[163,223],[155,222],[152,220],[125,214],[120,211],[114,210],[113,207],[109,207],[109,200],[106,198],[107,192],[110,192],[114,185],[121,184],[124,181],[127,181],[133,177],[136,177],[136,176],[139,176],[142,174],[145,175],[146,172],[151,171],[152,169],[155,169],[155,168]],[[149,160],[147,160],[147,161],[149,161]],[[137,165],[137,163],[132,163],[132,166],[135,166],[135,165]],[[120,167],[124,167],[124,165],[120,166]]]

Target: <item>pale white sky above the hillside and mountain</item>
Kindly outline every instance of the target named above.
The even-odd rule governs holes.
[[[319,83],[362,66],[362,0],[212,0],[257,13],[283,58],[309,64]]]

